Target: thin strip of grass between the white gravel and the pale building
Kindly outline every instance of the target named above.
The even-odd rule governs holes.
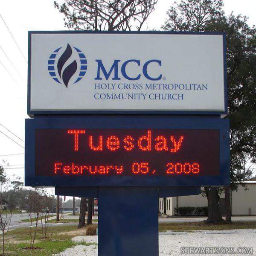
[[[204,221],[200,222],[170,222],[160,223],[158,226],[159,232],[165,232],[167,230],[172,231],[193,231],[193,230],[231,230],[231,229],[249,229],[256,228],[256,221],[233,221],[232,224],[207,224]]]

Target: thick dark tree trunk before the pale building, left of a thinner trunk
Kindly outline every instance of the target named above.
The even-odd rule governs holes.
[[[218,187],[204,187],[204,189],[208,199],[207,223],[219,223],[222,221],[222,217],[219,207]]]

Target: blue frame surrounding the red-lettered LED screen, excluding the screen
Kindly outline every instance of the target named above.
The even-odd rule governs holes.
[[[217,129],[220,131],[220,175],[197,177],[35,176],[35,129]],[[25,186],[228,186],[229,120],[171,116],[86,116],[26,119]]]

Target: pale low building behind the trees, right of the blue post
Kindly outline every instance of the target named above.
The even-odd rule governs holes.
[[[238,191],[230,192],[232,215],[256,215],[256,181],[246,181],[244,183],[246,189],[239,184]],[[160,213],[174,216],[177,207],[207,207],[207,198],[202,195],[159,198]],[[221,213],[224,215],[224,191],[221,194],[220,207]]]

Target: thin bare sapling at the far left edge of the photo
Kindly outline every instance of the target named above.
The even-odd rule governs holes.
[[[0,189],[1,189],[0,191],[0,230],[3,233],[3,239],[2,239],[3,255],[4,255],[5,236],[9,231],[10,223],[12,220],[13,195],[15,191],[18,190],[22,184],[23,183],[20,182],[19,180],[11,181],[10,177],[6,175],[6,172],[4,171],[3,166],[0,166]],[[3,207],[4,202],[6,204],[6,207]]]

